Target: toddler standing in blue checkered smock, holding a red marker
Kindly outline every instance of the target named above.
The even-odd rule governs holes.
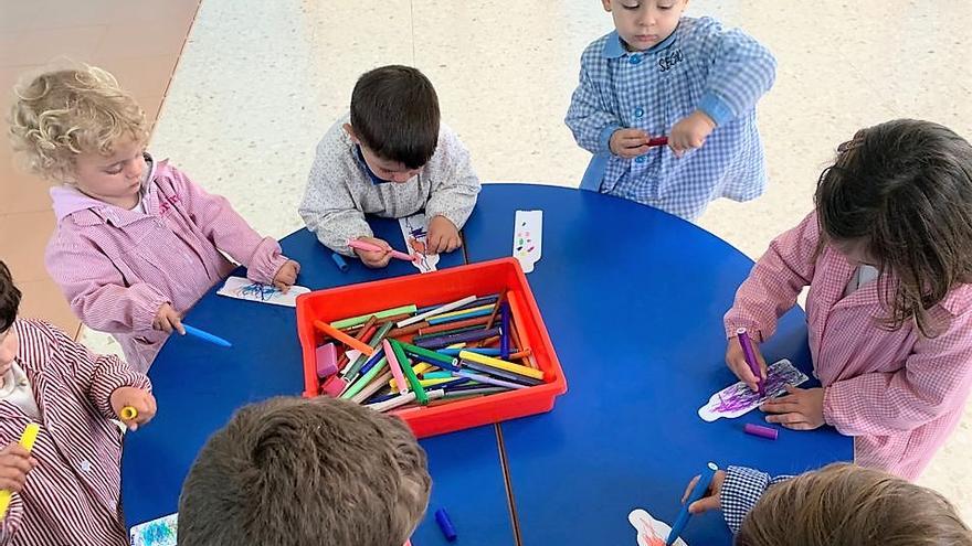
[[[756,104],[776,62],[760,43],[688,0],[602,0],[615,31],[581,56],[564,120],[594,157],[581,182],[696,220],[710,201],[748,201],[767,185]],[[648,146],[653,137],[668,146]]]

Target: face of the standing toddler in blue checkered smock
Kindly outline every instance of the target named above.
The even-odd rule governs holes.
[[[646,51],[675,32],[688,0],[601,0],[631,51]]]

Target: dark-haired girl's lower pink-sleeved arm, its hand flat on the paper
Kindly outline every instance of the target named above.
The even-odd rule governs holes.
[[[838,381],[824,389],[824,420],[847,436],[913,430],[960,409],[972,386],[972,312],[937,338],[920,336],[905,367]]]

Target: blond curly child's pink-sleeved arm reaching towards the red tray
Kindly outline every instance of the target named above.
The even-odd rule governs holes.
[[[246,266],[246,277],[270,285],[288,261],[273,237],[261,237],[222,195],[213,195],[175,167],[168,176],[196,225],[220,250]]]

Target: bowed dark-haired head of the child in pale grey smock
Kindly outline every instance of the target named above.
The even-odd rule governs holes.
[[[392,65],[358,78],[345,130],[361,144],[379,178],[405,182],[435,153],[439,120],[439,97],[429,78],[416,68]]]

